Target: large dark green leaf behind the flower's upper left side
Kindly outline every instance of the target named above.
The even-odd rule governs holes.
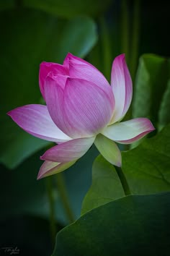
[[[58,20],[44,12],[15,9],[1,12],[1,162],[14,168],[48,142],[31,137],[6,112],[41,103],[38,72],[41,61],[61,62],[71,51],[85,56],[97,40],[87,18]],[[7,33],[6,33],[7,31]]]

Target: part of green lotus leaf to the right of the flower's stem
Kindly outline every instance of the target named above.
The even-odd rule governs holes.
[[[170,125],[138,148],[122,152],[122,170],[134,194],[170,190]]]

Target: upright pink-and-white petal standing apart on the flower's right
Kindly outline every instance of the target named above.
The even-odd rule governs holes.
[[[111,86],[115,96],[115,112],[111,121],[112,124],[125,116],[133,95],[132,80],[125,62],[125,54],[117,56],[113,61]]]

